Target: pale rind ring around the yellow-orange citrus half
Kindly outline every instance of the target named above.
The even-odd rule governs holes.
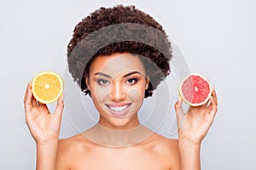
[[[58,79],[58,81],[60,82],[60,89],[59,92],[55,95],[54,99],[49,99],[49,100],[45,100],[45,99],[41,99],[38,94],[35,91],[35,84],[36,84],[36,80],[38,79],[38,77],[41,77],[45,74],[50,74],[54,77],[56,77]],[[38,102],[42,103],[42,104],[49,104],[49,103],[53,103],[55,102],[57,99],[59,99],[61,97],[61,94],[63,93],[63,88],[64,88],[64,84],[63,84],[63,79],[62,77],[55,73],[54,71],[42,71],[39,72],[33,79],[32,79],[32,94],[34,96],[35,99],[38,100]]]

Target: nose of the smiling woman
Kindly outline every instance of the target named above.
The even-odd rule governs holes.
[[[113,101],[121,101],[126,98],[125,88],[122,84],[112,83],[109,89],[109,98]]]

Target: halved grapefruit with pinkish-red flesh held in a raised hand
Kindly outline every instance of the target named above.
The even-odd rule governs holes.
[[[183,78],[178,88],[183,101],[191,106],[204,105],[212,94],[211,83],[198,73],[191,73]]]

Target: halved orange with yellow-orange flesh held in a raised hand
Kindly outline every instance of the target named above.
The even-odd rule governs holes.
[[[53,71],[40,72],[32,80],[32,94],[43,104],[49,104],[59,99],[62,92],[63,80]]]

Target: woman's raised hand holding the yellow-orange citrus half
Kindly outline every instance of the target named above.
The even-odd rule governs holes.
[[[63,111],[63,94],[50,114],[47,105],[38,102],[32,95],[32,82],[27,84],[24,97],[26,124],[36,144],[56,142],[59,138],[61,116]]]

